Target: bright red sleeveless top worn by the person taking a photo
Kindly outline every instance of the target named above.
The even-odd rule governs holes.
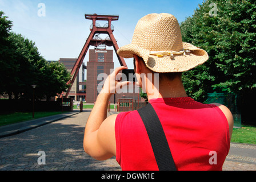
[[[222,170],[229,153],[229,125],[221,109],[190,97],[150,100],[177,170]],[[117,162],[123,171],[157,171],[147,131],[137,110],[115,121]]]

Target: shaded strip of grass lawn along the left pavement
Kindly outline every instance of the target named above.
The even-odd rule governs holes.
[[[62,114],[61,111],[58,112],[35,112],[34,119],[47,117],[50,115]],[[13,123],[18,123],[22,121],[29,121],[33,119],[32,113],[10,113],[10,114],[0,114],[0,126],[9,125]]]

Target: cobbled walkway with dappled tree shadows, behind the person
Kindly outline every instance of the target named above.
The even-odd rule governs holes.
[[[90,111],[0,138],[0,171],[3,170],[105,170],[119,171],[115,158],[99,162],[83,151],[83,131]],[[112,114],[112,113],[110,113]],[[38,164],[38,152],[46,154]],[[256,170],[256,146],[231,144],[223,170]]]

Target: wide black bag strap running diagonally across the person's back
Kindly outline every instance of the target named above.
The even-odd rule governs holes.
[[[139,109],[138,113],[141,115],[146,127],[147,135],[149,135],[159,171],[176,171],[177,169],[163,127],[153,106],[149,103]]]

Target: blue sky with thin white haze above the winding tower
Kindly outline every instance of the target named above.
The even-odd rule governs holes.
[[[33,40],[46,60],[77,58],[90,34],[91,20],[85,14],[119,15],[112,22],[115,39],[122,47],[131,42],[140,18],[150,13],[170,13],[181,23],[193,15],[203,0],[0,0],[0,10],[13,21],[13,31]],[[39,3],[45,4],[45,16],[38,16]],[[105,38],[105,35],[102,35]],[[94,47],[90,47],[94,48]],[[107,47],[113,49],[112,47]],[[89,52],[85,57],[88,61]],[[133,68],[131,59],[125,59]],[[114,54],[115,67],[119,66]]]

